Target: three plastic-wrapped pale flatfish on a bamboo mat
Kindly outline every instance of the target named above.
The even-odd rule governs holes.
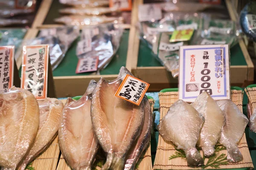
[[[172,141],[186,153],[188,165],[203,165],[204,156],[212,156],[219,142],[227,148],[227,160],[238,162],[243,159],[237,143],[244,134],[247,117],[231,100],[215,101],[204,92],[191,105],[178,100],[160,122],[158,130],[164,140]]]

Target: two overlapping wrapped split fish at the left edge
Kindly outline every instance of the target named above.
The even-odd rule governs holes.
[[[0,91],[0,167],[25,170],[57,136],[63,104],[22,88]]]

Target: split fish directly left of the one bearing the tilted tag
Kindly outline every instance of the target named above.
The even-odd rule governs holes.
[[[61,113],[59,145],[73,170],[90,170],[99,148],[90,119],[91,93],[95,86],[96,82],[91,80],[81,99],[68,98]]]

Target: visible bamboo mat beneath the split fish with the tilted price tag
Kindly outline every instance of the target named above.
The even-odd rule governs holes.
[[[61,100],[64,104],[66,103],[67,99]],[[151,105],[151,111],[154,111],[154,99],[149,99]],[[96,161],[93,163],[92,170],[100,170],[102,165],[105,162],[105,157],[102,152],[96,155]],[[148,144],[148,148],[143,151],[140,159],[137,162],[137,170],[152,170],[152,160],[151,160],[151,144]],[[56,170],[72,170],[72,168],[67,164],[67,161],[64,159],[63,155],[58,162],[58,166]]]

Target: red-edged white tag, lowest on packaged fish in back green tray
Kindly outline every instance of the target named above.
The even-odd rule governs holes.
[[[97,71],[99,56],[79,59],[76,66],[76,74]]]

